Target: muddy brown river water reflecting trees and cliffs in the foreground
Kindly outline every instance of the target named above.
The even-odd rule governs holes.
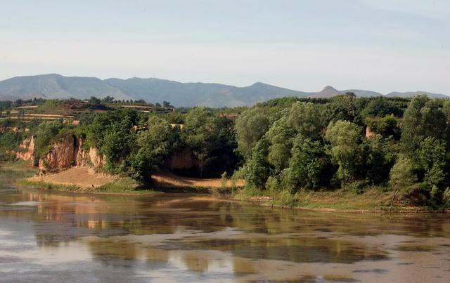
[[[321,213],[22,190],[0,171],[1,282],[449,282],[445,214]]]

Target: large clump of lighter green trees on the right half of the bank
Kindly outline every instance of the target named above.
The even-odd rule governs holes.
[[[401,192],[411,204],[449,206],[449,110],[449,100],[427,96],[352,93],[262,103],[236,121],[238,150],[246,157],[240,175],[252,190],[379,187]]]

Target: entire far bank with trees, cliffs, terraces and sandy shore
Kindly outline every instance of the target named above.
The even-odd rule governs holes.
[[[250,108],[127,106],[109,97],[0,103],[0,157],[37,168],[21,185],[51,190],[210,192],[307,209],[450,207],[450,100],[347,93]]]

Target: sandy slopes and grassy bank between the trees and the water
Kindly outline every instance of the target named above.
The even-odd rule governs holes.
[[[218,201],[239,201],[293,209],[348,212],[431,211],[423,207],[406,206],[401,203],[395,203],[391,207],[392,192],[376,188],[361,194],[342,189],[302,191],[297,192],[294,196],[286,193],[271,194],[270,192],[260,194],[245,190],[243,180],[186,178],[170,173],[161,173],[154,176],[156,182],[153,187],[157,188],[151,189],[142,186],[131,178],[95,173],[86,167],[74,167],[47,176],[32,176],[36,169],[22,161],[1,162],[0,169],[27,172],[25,176],[30,177],[18,180],[16,184],[20,187],[44,191],[106,195],[153,195],[160,192],[188,192],[208,194],[210,199]]]

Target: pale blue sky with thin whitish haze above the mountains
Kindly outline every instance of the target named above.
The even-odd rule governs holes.
[[[450,94],[449,0],[0,0],[0,80]]]

